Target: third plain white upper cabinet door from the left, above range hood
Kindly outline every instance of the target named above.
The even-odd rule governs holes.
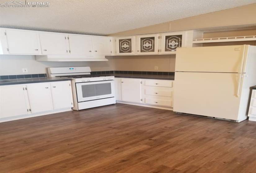
[[[69,35],[71,55],[92,55],[92,37]]]

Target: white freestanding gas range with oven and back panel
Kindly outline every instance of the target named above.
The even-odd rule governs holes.
[[[114,76],[91,74],[90,67],[48,68],[49,77],[71,78],[74,110],[115,104]]]

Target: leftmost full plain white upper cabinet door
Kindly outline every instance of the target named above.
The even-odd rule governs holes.
[[[38,32],[6,30],[10,54],[40,54]]]

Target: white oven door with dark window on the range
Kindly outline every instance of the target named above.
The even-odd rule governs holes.
[[[115,97],[114,80],[76,83],[77,101]]]

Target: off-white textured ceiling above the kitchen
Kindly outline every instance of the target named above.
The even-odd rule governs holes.
[[[11,0],[0,0],[0,4]],[[18,0],[18,2],[25,0]],[[256,0],[27,0],[0,7],[0,27],[106,35],[255,3]],[[10,4],[9,4],[10,5]]]

